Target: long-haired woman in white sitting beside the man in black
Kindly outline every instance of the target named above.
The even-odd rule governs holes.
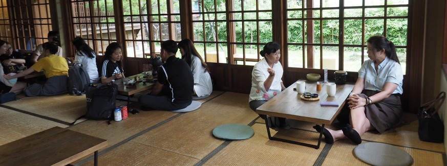
[[[193,41],[183,39],[178,44],[182,59],[188,63],[194,77],[194,96],[205,97],[212,92],[211,77],[208,65],[194,47]],[[193,98],[194,99],[194,98]]]

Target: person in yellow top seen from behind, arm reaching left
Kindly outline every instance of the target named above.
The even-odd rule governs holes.
[[[44,58],[38,60],[34,65],[25,71],[16,75],[4,75],[5,79],[13,79],[29,75],[33,72],[44,70],[45,76],[48,78],[45,84],[32,84],[25,89],[25,93],[29,97],[34,96],[54,96],[66,93],[68,81],[68,64],[65,58],[55,55],[58,46],[52,42],[46,42],[42,45]]]

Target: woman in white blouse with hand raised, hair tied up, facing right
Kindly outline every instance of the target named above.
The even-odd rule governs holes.
[[[253,111],[284,90],[286,87],[281,78],[283,77],[283,66],[280,62],[280,45],[276,42],[268,42],[260,52],[264,59],[253,67],[251,72],[251,90],[249,106]],[[263,119],[265,115],[260,115]],[[272,127],[285,127],[285,118],[271,117]]]

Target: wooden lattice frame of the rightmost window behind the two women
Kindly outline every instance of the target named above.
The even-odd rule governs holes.
[[[304,1],[304,0],[303,0]],[[312,2],[312,1],[310,1]],[[386,3],[386,1],[384,2]],[[304,4],[304,3],[303,3]],[[302,21],[302,25],[305,25],[305,23],[307,24],[307,30],[305,31],[305,29],[303,28],[303,41],[301,43],[291,43],[291,42],[286,42],[286,48],[288,48],[289,45],[299,45],[302,46],[302,54],[303,54],[303,62],[302,62],[302,66],[303,67],[292,67],[292,68],[312,68],[312,69],[323,69],[324,64],[323,64],[323,47],[324,46],[337,46],[338,47],[338,68],[336,68],[336,70],[344,70],[344,51],[346,47],[356,47],[356,48],[360,48],[360,50],[365,50],[366,48],[366,40],[368,36],[365,36],[365,21],[368,19],[383,19],[384,20],[384,34],[383,35],[387,35],[387,20],[388,19],[394,19],[394,18],[405,18],[407,20],[409,20],[409,15],[407,16],[388,16],[387,15],[387,9],[390,7],[407,7],[410,8],[410,5],[376,5],[376,6],[366,6],[365,5],[365,1],[363,1],[362,6],[352,6],[352,7],[345,7],[344,6],[344,1],[340,1],[339,7],[313,7],[311,3],[307,2],[306,4],[307,6],[305,7],[305,5],[302,5],[301,9],[286,9],[286,14],[285,14],[285,19],[286,21],[289,20],[301,20]],[[287,4],[286,4],[287,6]],[[383,16],[365,16],[365,10],[368,8],[383,8],[384,9],[384,15]],[[323,17],[323,10],[330,10],[330,9],[337,9],[339,10],[339,17],[331,17],[331,18],[327,18],[327,17]],[[361,17],[345,17],[344,16],[344,11],[345,9],[361,9],[362,10],[362,16]],[[313,11],[318,10],[320,11],[320,17],[313,17]],[[302,12],[302,17],[301,18],[287,18],[288,11],[301,11]],[[304,15],[307,15],[307,17],[305,17]],[[309,15],[312,15],[312,17],[308,17]],[[323,41],[323,35],[320,36],[320,43],[315,43],[313,42],[313,34],[314,34],[314,29],[313,26],[312,28],[309,28],[311,26],[309,26],[309,23],[313,22],[312,20],[318,20],[320,21],[320,27],[322,26],[322,23],[324,20],[338,20],[338,29],[339,29],[339,35],[338,35],[338,39],[339,42],[336,44],[327,44],[324,43]],[[344,26],[345,26],[345,20],[348,19],[354,19],[354,20],[361,20],[362,21],[362,33],[361,33],[361,44],[345,44],[344,43]],[[309,34],[309,31],[311,31],[311,33]],[[307,33],[306,33],[307,32]],[[407,32],[408,32],[408,28],[407,28]],[[323,29],[320,29],[320,34],[323,33]],[[287,35],[288,33],[286,32],[285,35]],[[305,42],[305,36],[307,34],[307,41]],[[286,39],[288,37],[286,36]],[[308,42],[309,38],[312,39],[312,42]],[[287,40],[286,40],[287,41]],[[409,41],[409,38],[407,38],[407,41]],[[314,49],[309,49],[308,47],[311,46],[312,48],[314,46],[318,46],[320,47],[320,68],[314,68]],[[306,48],[306,49],[304,49]],[[407,49],[408,51],[408,42],[407,45],[396,45],[396,49]],[[288,53],[288,49],[286,49],[286,54],[290,55]],[[307,53],[307,54],[306,54]],[[307,58],[306,58],[307,56]],[[289,57],[290,58],[290,57]],[[408,58],[408,56],[406,56],[406,58]],[[307,65],[306,62],[307,61]],[[365,61],[365,53],[363,51],[361,51],[361,61],[359,61],[359,66],[361,65],[361,63],[363,63]],[[286,62],[288,64],[288,62]],[[289,65],[287,65],[289,66]],[[290,66],[289,66],[290,67]]]

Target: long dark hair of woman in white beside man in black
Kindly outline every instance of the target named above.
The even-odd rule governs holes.
[[[182,48],[185,52],[185,55],[182,55],[182,59],[188,63],[189,66],[191,66],[191,63],[193,61],[193,56],[199,57],[200,61],[202,62],[202,66],[205,67],[205,72],[209,73],[209,67],[208,65],[203,61],[202,56],[197,52],[196,48],[194,47],[193,41],[189,39],[183,39],[179,42],[179,48]]]

